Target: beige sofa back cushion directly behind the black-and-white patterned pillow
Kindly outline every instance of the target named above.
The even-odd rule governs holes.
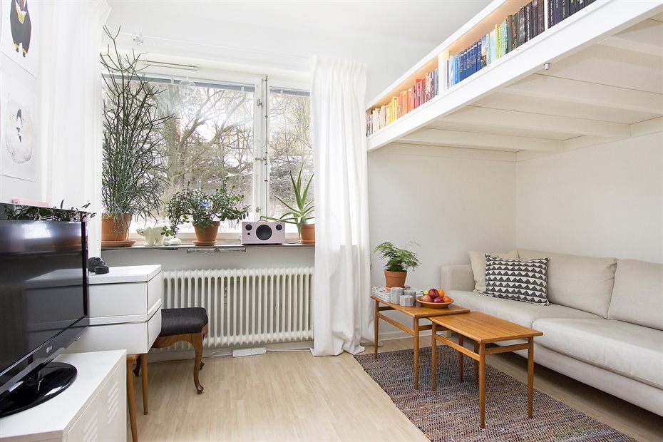
[[[548,301],[607,318],[615,258],[594,258],[518,249],[520,259],[548,258]]]

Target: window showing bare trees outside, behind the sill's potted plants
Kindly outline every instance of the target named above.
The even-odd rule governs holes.
[[[274,196],[294,202],[289,174],[297,179],[303,167],[308,180],[313,173],[308,92],[269,88],[267,78],[222,83],[155,76],[149,81],[162,91],[160,113],[175,115],[163,125],[163,142],[155,146],[165,158],[166,188],[161,210],[153,214],[159,223],[168,224],[166,205],[187,183],[213,191],[224,178],[244,195],[250,219],[287,211]],[[132,231],[154,223],[135,220]],[[220,230],[238,231],[237,222],[226,222]],[[192,225],[180,225],[180,233],[186,232],[193,232]],[[297,229],[288,225],[287,232]]]

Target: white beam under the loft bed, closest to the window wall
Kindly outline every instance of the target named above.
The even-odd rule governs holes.
[[[544,150],[547,152],[562,152],[564,150],[564,145],[560,140],[517,137],[513,135],[495,135],[492,133],[462,132],[460,130],[446,129],[420,129],[404,136],[399,142],[510,151]]]

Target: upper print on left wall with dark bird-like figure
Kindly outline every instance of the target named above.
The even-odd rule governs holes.
[[[36,77],[41,55],[40,2],[1,0],[0,9],[0,51]]]

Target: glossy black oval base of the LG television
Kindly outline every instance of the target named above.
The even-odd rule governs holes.
[[[76,367],[51,362],[0,399],[0,418],[19,413],[53,399],[76,379]]]

